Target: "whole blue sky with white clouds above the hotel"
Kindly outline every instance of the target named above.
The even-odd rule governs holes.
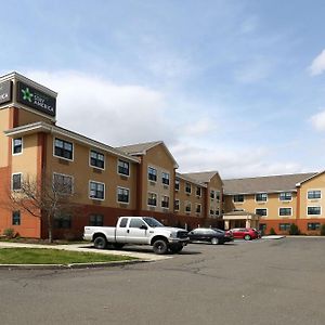
[[[325,1],[0,0],[0,75],[56,91],[57,125],[161,140],[179,172],[325,169]]]

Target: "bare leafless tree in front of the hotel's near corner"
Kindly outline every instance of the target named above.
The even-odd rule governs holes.
[[[54,218],[74,210],[72,203],[74,193],[73,178],[53,173],[35,179],[13,179],[13,190],[10,191],[10,202],[16,209],[23,209],[31,216],[41,219],[48,227],[48,239],[53,242]]]

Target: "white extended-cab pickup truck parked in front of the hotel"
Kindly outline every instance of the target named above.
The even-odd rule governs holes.
[[[116,226],[84,226],[83,239],[104,249],[107,245],[122,248],[126,244],[151,245],[154,252],[180,252],[190,242],[187,231],[165,226],[151,217],[120,217]]]

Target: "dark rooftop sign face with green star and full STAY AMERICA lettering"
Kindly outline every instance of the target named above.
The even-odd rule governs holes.
[[[17,81],[17,102],[51,116],[55,116],[56,99],[22,81]]]

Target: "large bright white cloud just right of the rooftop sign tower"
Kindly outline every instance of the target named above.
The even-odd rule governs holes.
[[[75,72],[31,72],[27,76],[58,92],[58,126],[113,146],[172,142],[173,128],[165,118],[167,108],[159,91]]]

